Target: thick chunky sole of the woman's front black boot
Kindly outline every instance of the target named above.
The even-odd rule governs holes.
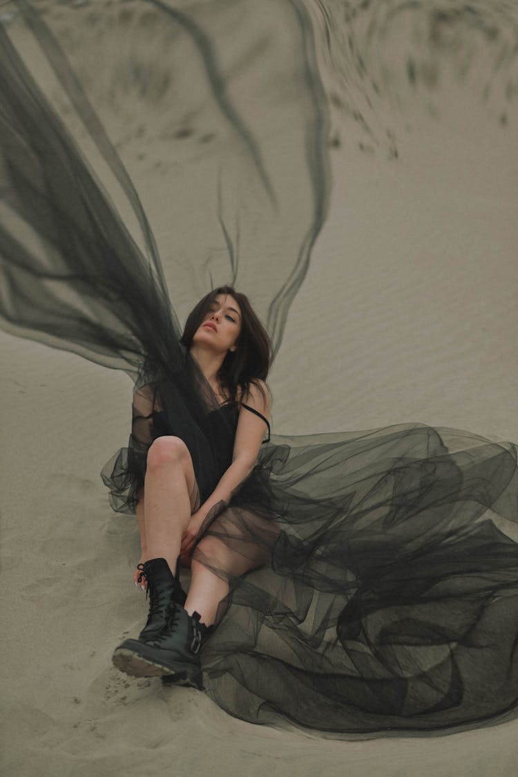
[[[129,641],[129,640],[128,640]],[[183,661],[163,662],[145,655],[146,645],[132,640],[135,645],[121,645],[113,653],[113,665],[120,671],[135,678],[167,678],[167,685],[184,685],[186,688],[203,689],[200,667],[186,664]],[[151,650],[153,650],[151,648]]]

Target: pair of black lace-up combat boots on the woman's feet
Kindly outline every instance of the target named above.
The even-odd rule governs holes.
[[[113,664],[135,677],[168,676],[177,685],[201,688],[200,615],[183,609],[183,591],[165,559],[144,563],[142,571],[151,600],[148,622],[138,639],[125,639],[116,648]]]

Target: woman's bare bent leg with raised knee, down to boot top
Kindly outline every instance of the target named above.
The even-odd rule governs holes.
[[[196,479],[186,444],[179,437],[158,437],[148,451],[144,500],[137,521],[145,549],[141,561],[164,558],[172,573],[189,518],[195,507]],[[142,504],[143,502],[143,504]]]

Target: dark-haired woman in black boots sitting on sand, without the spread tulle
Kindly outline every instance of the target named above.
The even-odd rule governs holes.
[[[257,566],[264,556],[258,547],[256,558],[248,554],[245,559],[221,538],[199,542],[198,538],[215,519],[217,523],[217,515],[224,513],[232,495],[251,475],[265,430],[269,430],[269,399],[262,382],[269,368],[269,340],[245,294],[221,287],[193,309],[182,342],[200,371],[201,394],[209,407],[210,399],[219,405],[212,412],[226,413],[229,431],[234,427],[235,434],[227,441],[231,461],[222,455],[214,462],[222,471],[221,478],[202,484],[188,448],[191,435],[184,435],[184,441],[171,430],[149,446],[145,484],[137,501],[142,555],[135,582],[145,580],[148,585],[150,612],[139,638],[127,639],[117,647],[113,662],[127,674],[162,674],[183,685],[201,687],[198,653],[202,637],[214,624],[217,605],[229,586],[221,571],[218,575],[196,556],[207,557],[215,551],[223,559],[224,572],[233,576]],[[134,409],[137,418],[147,418],[151,424],[159,417],[149,385],[136,392]],[[148,434],[155,437],[156,432],[151,427]],[[205,497],[207,492],[210,495]],[[189,559],[193,550],[186,597],[179,584],[178,560],[180,554]]]

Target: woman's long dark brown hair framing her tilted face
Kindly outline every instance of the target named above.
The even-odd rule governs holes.
[[[244,396],[249,391],[251,383],[266,381],[271,361],[272,348],[269,336],[246,294],[235,291],[231,286],[220,286],[210,291],[200,299],[187,316],[181,342],[190,348],[194,335],[219,294],[233,297],[241,308],[241,333],[236,343],[237,348],[235,351],[228,351],[217,374],[229,399],[235,401],[238,391]],[[260,385],[259,389],[264,395]]]

